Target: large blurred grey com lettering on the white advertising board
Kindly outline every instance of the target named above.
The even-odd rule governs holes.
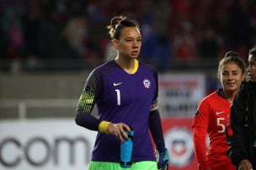
[[[77,146],[84,148],[77,150]],[[0,167],[13,169],[14,167],[27,164],[29,167],[45,167],[52,164],[57,167],[63,164],[65,158],[67,165],[77,165],[77,153],[83,153],[85,159],[83,162],[88,163],[90,157],[90,144],[84,137],[55,137],[49,141],[45,137],[31,137],[28,141],[16,138],[5,137],[0,140]],[[9,156],[12,152],[12,157]],[[63,155],[63,152],[67,154]],[[63,158],[64,156],[64,158]],[[15,168],[16,169],[16,168]]]

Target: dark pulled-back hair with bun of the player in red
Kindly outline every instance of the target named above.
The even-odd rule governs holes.
[[[227,54],[225,54],[225,57],[223,59],[221,59],[219,62],[219,67],[218,67],[218,71],[217,71],[218,78],[221,77],[221,69],[224,67],[224,64],[227,64],[229,62],[236,63],[238,65],[238,67],[240,69],[242,69],[242,72],[244,74],[246,67],[245,67],[245,63],[244,63],[243,59],[241,58],[241,56],[237,52],[228,51]]]

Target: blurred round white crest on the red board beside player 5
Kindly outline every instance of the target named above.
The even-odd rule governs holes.
[[[194,157],[193,135],[184,127],[173,127],[164,137],[169,152],[169,165],[185,167]]]

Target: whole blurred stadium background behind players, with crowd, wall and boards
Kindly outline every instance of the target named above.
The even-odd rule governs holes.
[[[141,24],[141,60],[159,70],[159,105],[171,169],[197,169],[191,121],[219,87],[227,50],[256,44],[253,0],[2,0],[0,169],[86,169],[95,132],[76,126],[88,73],[115,56],[105,26]],[[93,111],[95,113],[95,111]]]

